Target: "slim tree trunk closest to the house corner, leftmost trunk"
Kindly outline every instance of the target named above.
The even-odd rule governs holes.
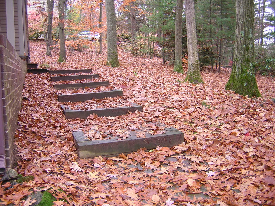
[[[47,22],[47,32],[46,32],[46,55],[52,56],[52,15],[54,11],[54,0],[47,0],[47,13],[48,13],[48,22]]]

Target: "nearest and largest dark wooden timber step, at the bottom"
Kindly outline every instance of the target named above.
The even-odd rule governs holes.
[[[164,129],[163,134],[146,134],[144,138],[134,133],[126,139],[106,138],[104,140],[89,140],[82,131],[72,132],[76,142],[76,149],[80,158],[90,158],[103,155],[116,155],[134,152],[140,148],[152,149],[158,145],[164,147],[175,146],[184,142],[184,134],[173,127]]]

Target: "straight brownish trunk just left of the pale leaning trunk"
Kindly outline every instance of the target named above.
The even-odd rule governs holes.
[[[183,73],[182,69],[182,6],[183,0],[177,0],[175,22],[175,63],[174,72]]]

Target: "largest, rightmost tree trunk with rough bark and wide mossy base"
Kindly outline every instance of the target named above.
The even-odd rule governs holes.
[[[261,96],[254,70],[253,40],[254,2],[236,0],[236,31],[233,67],[225,86],[238,94],[249,97]]]

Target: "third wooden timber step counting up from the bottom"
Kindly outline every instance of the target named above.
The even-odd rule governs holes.
[[[104,99],[107,97],[117,97],[117,96],[123,96],[122,90],[58,95],[58,101],[59,102],[85,102],[87,100],[92,100],[92,99]]]

